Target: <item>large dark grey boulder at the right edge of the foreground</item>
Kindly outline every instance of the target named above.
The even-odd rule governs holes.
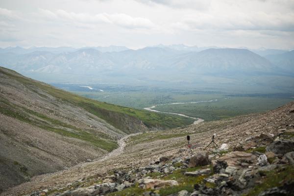
[[[267,151],[272,151],[275,154],[284,155],[294,149],[294,142],[291,140],[278,140],[270,143],[266,147]]]

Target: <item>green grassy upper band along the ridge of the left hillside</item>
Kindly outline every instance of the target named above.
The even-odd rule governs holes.
[[[99,118],[105,120],[107,123],[110,123],[114,127],[126,133],[140,131],[133,130],[136,128],[136,126],[129,126],[128,124],[126,124],[129,123],[129,121],[136,121],[137,123],[140,123],[140,121],[142,121],[142,123],[144,123],[148,128],[159,129],[173,128],[193,123],[193,120],[189,118],[158,114],[144,110],[136,110],[132,108],[109,104],[106,102],[99,102],[89,98],[84,98],[60,89],[56,89],[46,83],[26,78],[16,72],[11,73],[13,72],[11,70],[9,70],[10,73],[8,73],[7,70],[8,69],[1,68],[0,72],[21,82],[27,88],[38,87],[39,89],[46,91],[54,98],[59,98],[61,101],[69,102],[76,106],[82,107],[88,112],[98,116]],[[43,95],[40,94],[40,96]],[[126,119],[128,121],[125,121]]]

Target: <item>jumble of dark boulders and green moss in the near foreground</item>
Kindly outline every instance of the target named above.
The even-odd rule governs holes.
[[[196,151],[160,157],[144,167],[97,176],[84,187],[82,178],[64,189],[36,191],[28,196],[290,196],[294,193],[294,129],[250,138],[234,149]],[[66,190],[66,191],[65,191]]]

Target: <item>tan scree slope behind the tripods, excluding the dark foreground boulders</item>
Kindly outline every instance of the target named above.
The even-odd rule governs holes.
[[[49,190],[47,194],[56,194],[77,187],[87,187],[101,183],[116,170],[131,171],[147,166],[160,157],[187,157],[179,151],[187,145],[186,136],[190,135],[194,151],[203,149],[211,141],[214,133],[216,143],[226,143],[229,149],[246,146],[252,138],[261,133],[277,136],[281,130],[294,128],[294,102],[264,114],[240,116],[221,121],[192,124],[182,129],[145,132],[131,135],[127,139],[124,150],[118,150],[102,160],[78,164],[68,170],[33,177],[29,182],[13,187],[1,196],[31,194]],[[251,138],[251,139],[250,139]],[[124,146],[124,144],[121,144]],[[211,150],[211,149],[210,149]],[[34,194],[32,194],[34,195]]]

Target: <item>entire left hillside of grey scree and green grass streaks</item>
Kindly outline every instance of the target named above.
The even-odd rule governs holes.
[[[128,133],[190,121],[82,98],[0,67],[0,189],[101,157]]]

